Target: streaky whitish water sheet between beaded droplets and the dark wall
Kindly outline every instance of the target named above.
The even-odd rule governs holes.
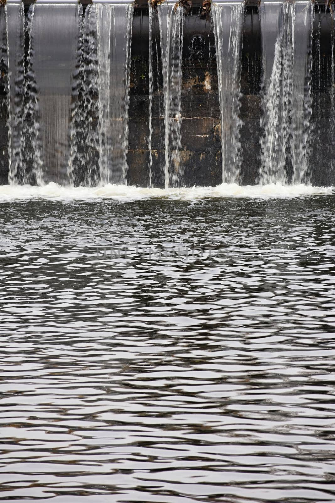
[[[126,184],[133,4],[96,4],[100,177]],[[107,57],[106,57],[107,56]]]

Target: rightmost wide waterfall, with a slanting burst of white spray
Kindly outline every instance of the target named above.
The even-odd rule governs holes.
[[[312,2],[262,2],[262,184],[308,180]]]

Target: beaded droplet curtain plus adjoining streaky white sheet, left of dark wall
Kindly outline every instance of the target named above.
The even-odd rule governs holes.
[[[76,185],[126,184],[133,11],[133,4],[96,3],[85,12],[75,85],[81,103],[71,124]]]

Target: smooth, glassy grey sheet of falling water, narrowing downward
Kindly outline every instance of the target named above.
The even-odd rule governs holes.
[[[44,182],[65,184],[70,111],[81,6],[36,3],[31,29]]]

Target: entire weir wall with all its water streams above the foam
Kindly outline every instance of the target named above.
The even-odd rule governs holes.
[[[329,9],[208,11],[2,5],[1,183],[333,185]]]

